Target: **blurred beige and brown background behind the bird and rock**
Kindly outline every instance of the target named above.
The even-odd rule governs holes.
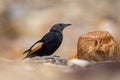
[[[52,25],[70,23],[54,53],[69,58],[77,53],[80,35],[107,30],[120,42],[120,0],[0,0],[0,58],[21,59]]]

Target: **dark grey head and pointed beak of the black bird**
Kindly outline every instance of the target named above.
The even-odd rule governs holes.
[[[62,32],[65,27],[70,26],[71,24],[64,24],[64,23],[58,23],[53,25],[53,27],[50,29],[50,31],[59,31]]]

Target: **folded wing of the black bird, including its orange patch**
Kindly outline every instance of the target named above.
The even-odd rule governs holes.
[[[41,47],[42,47],[44,44],[52,41],[52,40],[54,39],[54,36],[55,36],[55,35],[54,35],[54,33],[52,33],[52,32],[47,33],[41,40],[39,40],[39,41],[37,41],[36,43],[34,43],[34,44],[30,47],[30,49],[26,50],[23,54],[25,54],[25,53],[32,54],[32,53],[36,52],[37,50],[41,49]]]

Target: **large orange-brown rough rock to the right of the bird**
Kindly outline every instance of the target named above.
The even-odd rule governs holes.
[[[116,60],[120,58],[119,46],[107,31],[89,32],[80,36],[77,56],[89,61]]]

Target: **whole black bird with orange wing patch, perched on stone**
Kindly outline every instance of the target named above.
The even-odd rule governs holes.
[[[63,30],[71,24],[58,23],[53,25],[50,31],[43,36],[43,38],[34,43],[23,54],[27,53],[25,58],[32,58],[35,56],[48,56],[53,54],[60,46],[63,40]],[[24,59],[25,59],[24,58]]]

